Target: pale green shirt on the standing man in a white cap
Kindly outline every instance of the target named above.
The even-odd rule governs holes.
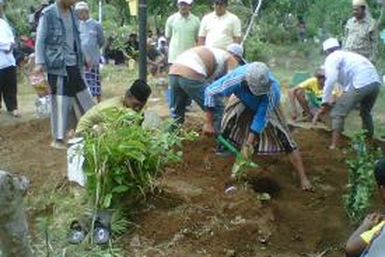
[[[192,13],[183,17],[177,12],[168,17],[165,29],[166,38],[171,39],[168,63],[174,63],[179,54],[196,46],[199,25],[198,17]]]

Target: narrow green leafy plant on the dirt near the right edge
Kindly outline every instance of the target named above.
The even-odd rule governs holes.
[[[361,131],[353,137],[353,155],[346,161],[349,181],[343,202],[349,218],[354,223],[361,221],[365,216],[376,190],[374,165],[380,157],[380,151],[367,148],[365,134],[365,131]]]

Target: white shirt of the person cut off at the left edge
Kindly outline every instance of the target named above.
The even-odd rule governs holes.
[[[16,66],[13,52],[10,51],[15,43],[14,35],[8,23],[0,18],[0,69]]]

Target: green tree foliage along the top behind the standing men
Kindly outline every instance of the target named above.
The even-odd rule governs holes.
[[[98,17],[99,0],[88,0],[93,17]],[[126,0],[103,0],[103,22],[107,34],[118,28],[137,30],[137,18],[130,16]],[[230,0],[230,11],[237,14],[243,28],[251,20],[258,0]],[[378,0],[368,0],[372,16],[380,15]],[[6,15],[19,32],[28,33],[27,15],[30,6],[39,0],[12,0],[7,2]],[[211,0],[196,0],[192,12],[199,17],[210,11]],[[167,17],[177,11],[177,0],[147,0],[148,24],[152,29],[164,29]],[[297,25],[304,21],[309,37],[341,36],[345,22],[352,16],[351,0],[263,0],[260,15],[252,30],[252,38],[260,42],[282,44],[296,40]],[[128,27],[127,27],[128,26]],[[122,30],[122,29],[120,29]],[[255,35],[258,33],[258,35]]]

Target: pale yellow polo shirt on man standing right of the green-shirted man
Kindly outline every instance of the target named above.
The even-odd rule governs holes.
[[[211,12],[202,19],[199,36],[206,38],[205,46],[226,50],[234,43],[234,37],[241,36],[241,21],[229,11],[222,16]]]

